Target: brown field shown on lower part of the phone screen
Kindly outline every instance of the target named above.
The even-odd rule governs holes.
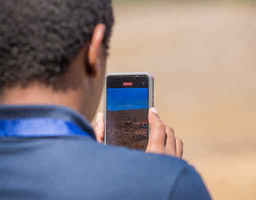
[[[107,143],[145,150],[148,144],[148,109],[107,111]]]

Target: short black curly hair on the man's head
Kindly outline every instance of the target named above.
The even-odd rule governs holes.
[[[113,26],[111,0],[0,0],[0,90],[63,74],[98,23]]]

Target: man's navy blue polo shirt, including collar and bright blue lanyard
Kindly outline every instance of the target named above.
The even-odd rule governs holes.
[[[176,157],[104,146],[78,113],[0,106],[0,200],[210,199]]]

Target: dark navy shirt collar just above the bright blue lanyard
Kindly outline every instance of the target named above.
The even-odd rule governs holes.
[[[95,139],[94,131],[89,122],[82,115],[67,107],[56,105],[0,105],[0,120],[42,120],[44,118],[67,121],[83,132],[89,133]]]

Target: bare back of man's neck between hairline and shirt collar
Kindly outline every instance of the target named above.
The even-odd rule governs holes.
[[[39,83],[28,87],[12,87],[4,89],[0,96],[0,104],[51,104],[70,107],[77,112],[81,112],[79,106],[79,94],[76,90],[66,89],[65,91],[56,91],[54,88]]]

